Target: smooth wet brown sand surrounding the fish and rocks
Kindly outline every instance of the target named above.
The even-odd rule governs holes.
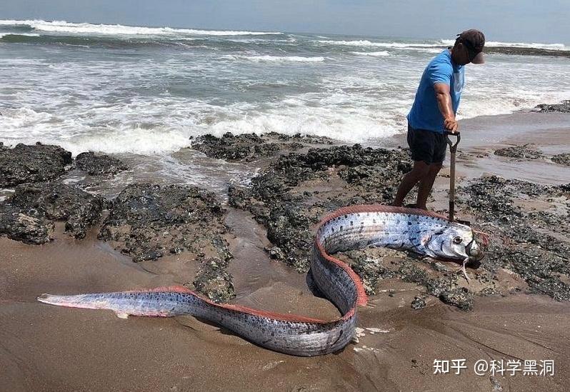
[[[534,143],[545,154],[570,150],[570,116],[514,114],[463,121],[458,160],[462,179],[494,173],[543,184],[569,182],[570,168],[549,161],[514,161],[494,149]],[[386,144],[402,144],[401,136]],[[188,154],[184,159],[190,159]],[[196,167],[208,167],[199,158]],[[210,160],[215,164],[215,160]],[[237,167],[237,166],[236,166]],[[204,169],[206,170],[206,169]],[[240,169],[241,170],[241,169]],[[244,172],[251,169],[244,169]],[[206,170],[207,171],[207,170]],[[215,170],[210,169],[211,173]],[[431,208],[446,206],[446,171]],[[227,174],[224,174],[227,176]],[[201,179],[200,176],[197,178]],[[172,179],[171,181],[176,181]],[[179,181],[179,179],[178,179]],[[224,179],[201,184],[219,191]],[[212,185],[213,184],[213,185]],[[461,211],[459,211],[461,217]],[[226,224],[237,296],[246,306],[334,318],[305,276],[263,250],[265,230],[230,209]],[[566,391],[570,388],[570,303],[524,293],[478,297],[472,312],[429,297],[410,308],[413,283],[381,281],[359,309],[359,342],[343,351],[298,358],[255,346],[191,317],[116,318],[111,311],[56,308],[41,293],[151,288],[191,281],[197,265],[184,253],[132,263],[96,239],[61,233],[31,246],[0,238],[0,390],[5,391]],[[506,279],[506,278],[505,278]],[[515,282],[517,283],[517,282]],[[524,281],[518,282],[524,286]],[[366,329],[371,328],[371,329]],[[434,374],[435,359],[465,358],[460,375]],[[554,376],[477,376],[484,359],[554,360]],[[501,389],[502,388],[502,389]]]

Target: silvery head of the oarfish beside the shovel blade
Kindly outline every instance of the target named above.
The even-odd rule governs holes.
[[[484,244],[485,238],[478,238],[469,226],[452,223],[432,233],[426,248],[438,258],[479,261],[485,254]]]

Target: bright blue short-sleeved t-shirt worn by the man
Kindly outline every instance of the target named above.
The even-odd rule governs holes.
[[[451,106],[457,113],[461,90],[464,82],[464,66],[454,63],[448,49],[432,59],[424,74],[421,75],[416,99],[408,114],[408,123],[414,129],[427,129],[428,131],[440,132],[445,130],[444,116],[437,106],[434,84],[445,83],[449,86]]]

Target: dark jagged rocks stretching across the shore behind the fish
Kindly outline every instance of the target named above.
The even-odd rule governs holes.
[[[214,301],[235,296],[228,272],[233,257],[229,241],[239,233],[224,223],[226,208],[219,195],[196,186],[142,183],[125,184],[118,196],[106,199],[59,178],[69,170],[94,179],[129,170],[119,159],[84,153],[73,160],[69,151],[42,144],[0,147],[0,185],[14,188],[0,202],[0,235],[46,243],[61,221],[70,236],[81,239],[96,231],[101,241],[134,262],[160,262],[169,255],[195,260],[196,276],[187,286]],[[229,206],[250,213],[264,226],[269,257],[299,273],[309,270],[314,230],[326,213],[353,204],[390,203],[401,176],[411,168],[406,149],[344,146],[312,136],[206,135],[192,140],[191,149],[259,169],[249,184],[229,184]],[[546,159],[531,145],[495,154]],[[551,161],[568,164],[567,155]],[[471,282],[455,273],[454,263],[402,251],[366,248],[339,257],[359,274],[369,295],[379,295],[379,284],[386,279],[422,287],[423,293],[409,304],[414,309],[426,306],[429,295],[463,310],[471,310],[477,296],[517,291],[569,301],[569,199],[570,184],[539,186],[497,176],[464,181],[458,206],[491,238],[488,256],[468,270]]]

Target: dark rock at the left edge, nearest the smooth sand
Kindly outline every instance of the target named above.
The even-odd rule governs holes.
[[[66,232],[84,238],[104,204],[103,198],[66,184],[22,184],[0,205],[0,233],[26,243],[44,243],[50,239],[51,221],[64,221]]]

